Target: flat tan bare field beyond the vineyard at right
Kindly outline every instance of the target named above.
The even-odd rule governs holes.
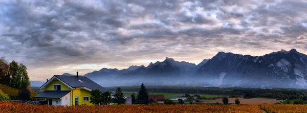
[[[228,98],[229,102],[231,104],[234,104],[234,101],[236,98]],[[251,98],[251,99],[244,99],[239,98],[240,104],[274,104],[276,102],[280,102],[282,100],[276,100],[276,99],[268,99],[268,98]],[[223,103],[222,98],[216,99],[216,100],[201,100],[201,103]]]

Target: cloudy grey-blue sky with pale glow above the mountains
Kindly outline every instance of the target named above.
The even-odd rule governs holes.
[[[0,1],[0,57],[30,80],[218,52],[307,54],[307,1]]]

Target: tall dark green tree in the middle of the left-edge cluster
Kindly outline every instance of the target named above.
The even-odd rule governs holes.
[[[10,86],[20,88],[21,76],[18,73],[19,65],[14,60],[10,63],[11,82]]]

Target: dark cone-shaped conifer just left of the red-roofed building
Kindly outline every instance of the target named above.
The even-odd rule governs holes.
[[[146,90],[146,87],[142,83],[140,91],[139,91],[139,95],[138,95],[138,98],[137,98],[137,103],[138,104],[149,104],[148,98],[149,98],[148,92]]]

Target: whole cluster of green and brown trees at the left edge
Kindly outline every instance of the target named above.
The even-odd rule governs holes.
[[[17,89],[27,89],[30,81],[26,65],[18,64],[14,60],[8,63],[4,57],[0,58],[0,84]]]

